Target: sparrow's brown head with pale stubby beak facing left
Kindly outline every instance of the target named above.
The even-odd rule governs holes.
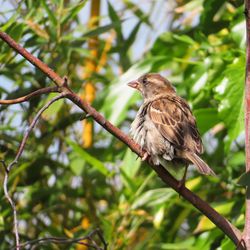
[[[137,80],[129,82],[128,86],[139,90],[145,100],[161,94],[175,93],[171,83],[156,73],[145,74]]]

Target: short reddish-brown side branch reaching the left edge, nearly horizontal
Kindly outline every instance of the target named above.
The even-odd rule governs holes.
[[[52,92],[59,92],[58,87],[47,87],[47,88],[38,89],[28,95],[25,95],[25,96],[22,96],[13,100],[0,100],[0,104],[11,105],[11,104],[16,104],[16,103],[26,102],[32,97],[42,95],[42,94],[52,93]]]

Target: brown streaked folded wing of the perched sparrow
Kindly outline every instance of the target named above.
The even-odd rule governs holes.
[[[181,150],[203,151],[196,121],[188,104],[178,96],[164,96],[149,105],[149,116],[161,135]]]

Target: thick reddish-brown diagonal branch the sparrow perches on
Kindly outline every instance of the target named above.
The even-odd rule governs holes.
[[[33,58],[34,56],[30,55],[27,51],[26,54],[23,53],[23,48],[16,44],[14,40],[12,40],[7,34],[0,32],[0,37],[6,41],[12,48],[14,48],[18,53],[23,55],[27,60]],[[11,43],[10,43],[11,41]],[[47,74],[47,72],[51,72],[52,70],[46,66],[45,64],[41,64],[39,59],[33,60],[33,64],[39,68],[42,72]],[[40,67],[43,65],[43,67]],[[54,71],[53,71],[54,72]],[[54,73],[55,74],[55,73]],[[47,74],[48,75],[48,74]],[[55,79],[59,79],[59,76],[54,75]],[[51,78],[52,79],[52,78]],[[60,78],[61,79],[61,78]],[[53,80],[53,79],[52,79]],[[63,79],[60,82],[60,86],[62,86]],[[58,85],[58,81],[55,81],[56,85]],[[70,99],[73,103],[75,103],[79,108],[88,113],[93,119],[98,122],[103,128],[105,128],[108,132],[118,138],[120,141],[124,142],[133,152],[135,152],[138,156],[143,156],[143,151],[131,138],[125,135],[120,129],[115,127],[109,121],[107,121],[100,113],[98,113],[93,107],[91,107],[85,100],[81,100],[75,93],[73,93],[66,86],[62,91],[67,93],[66,97]],[[216,212],[207,202],[202,200],[199,196],[188,190],[187,188],[178,188],[178,181],[162,166],[153,166],[151,167],[157,172],[158,176],[165,182],[168,186],[172,187],[176,192],[178,192],[181,196],[183,196],[186,200],[188,200],[191,204],[193,204],[202,214],[206,215],[218,228],[220,228],[238,247],[244,248],[241,242],[241,233],[235,228],[227,219],[225,219],[222,215]]]

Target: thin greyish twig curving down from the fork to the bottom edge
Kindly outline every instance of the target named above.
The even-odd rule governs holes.
[[[22,155],[22,152],[24,150],[25,144],[27,142],[27,139],[30,135],[30,132],[32,131],[32,129],[35,127],[38,119],[40,118],[40,116],[42,115],[42,113],[55,101],[61,99],[65,97],[65,93],[61,93],[60,95],[54,97],[53,99],[51,99],[48,103],[46,103],[36,114],[35,118],[33,119],[33,121],[31,122],[30,126],[28,127],[28,129],[26,130],[24,137],[22,139],[22,142],[19,146],[19,149],[17,151],[16,157],[14,159],[14,161],[12,161],[7,167],[4,161],[1,161],[4,168],[5,168],[5,175],[4,175],[4,183],[3,183],[3,188],[4,188],[4,195],[7,198],[7,200],[9,201],[12,210],[13,210],[13,226],[14,226],[14,234],[15,234],[15,241],[16,241],[16,249],[19,250],[19,234],[18,234],[18,219],[17,219],[17,211],[16,211],[16,206],[15,206],[15,202],[12,200],[12,198],[9,195],[8,192],[8,178],[9,178],[9,172],[11,171],[11,169],[13,168],[13,166],[15,164],[17,164],[20,156]]]

